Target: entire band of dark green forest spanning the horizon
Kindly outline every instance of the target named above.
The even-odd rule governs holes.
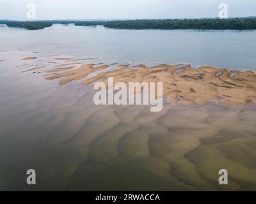
[[[256,29],[256,17],[247,18],[200,18],[165,20],[50,20],[50,21],[11,21],[0,20],[8,27],[23,27],[29,30],[44,29],[52,24],[74,24],[76,26],[103,25],[113,29],[202,29],[202,30],[253,30]]]

